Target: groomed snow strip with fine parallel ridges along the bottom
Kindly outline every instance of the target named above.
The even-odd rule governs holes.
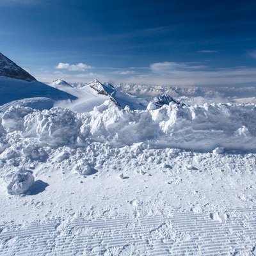
[[[58,231],[61,225],[60,218],[42,223],[31,223],[29,227],[22,229],[10,225],[9,228],[13,230],[3,230],[0,234],[0,241],[17,239],[17,248],[8,247],[8,245],[1,246],[0,253],[1,255],[28,255],[27,246],[29,245],[29,255],[42,255],[42,253],[44,255],[68,255],[70,252],[104,255],[106,248],[122,248],[134,244],[138,250],[137,253],[142,253],[141,255],[183,255],[184,253],[226,255],[230,248],[234,250],[244,248],[248,237],[251,240],[256,239],[256,207],[232,210],[253,215],[254,220],[244,220],[243,225],[241,225],[241,218],[233,217],[232,221],[220,222],[211,220],[209,212],[200,214],[179,212],[176,214],[176,211],[177,209],[173,208],[170,218],[161,215],[148,216],[138,218],[136,223],[131,218],[120,216],[113,219],[102,217],[93,221],[75,218],[62,232]],[[129,224],[135,224],[136,228],[129,229]],[[177,234],[180,234],[179,241],[164,236],[166,227],[172,227]],[[90,230],[90,232],[87,235],[72,236],[70,232],[74,228]],[[20,244],[23,246],[19,246]],[[250,252],[249,248],[250,242],[248,242],[248,252]]]

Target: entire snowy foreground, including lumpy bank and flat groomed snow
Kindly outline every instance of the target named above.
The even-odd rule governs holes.
[[[256,255],[255,104],[0,115],[0,255]]]

